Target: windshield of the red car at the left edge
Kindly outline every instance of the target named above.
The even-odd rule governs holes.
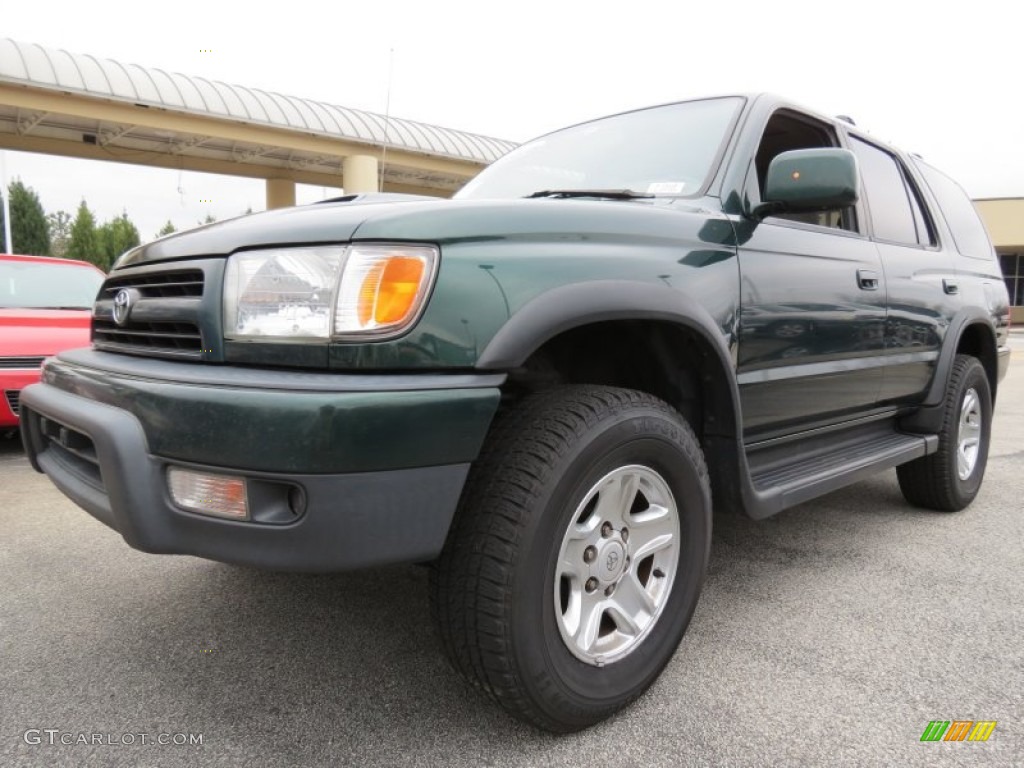
[[[86,267],[0,259],[0,309],[88,309],[102,282]]]

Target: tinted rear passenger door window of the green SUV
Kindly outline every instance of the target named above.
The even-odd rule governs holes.
[[[850,148],[860,163],[860,174],[871,212],[874,237],[908,246],[934,243],[918,190],[895,157],[851,137]]]

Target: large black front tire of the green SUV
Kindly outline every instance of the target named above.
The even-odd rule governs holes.
[[[570,536],[585,527],[585,516],[589,524],[605,509],[602,495],[611,484],[598,481],[620,478],[620,490],[607,490],[612,500],[607,508],[618,502],[621,509],[629,507],[621,519],[637,523],[633,541],[642,542],[655,529],[669,530],[672,519],[678,520],[678,537],[655,537],[674,542],[669,545],[652,545],[654,539],[635,545],[635,554],[645,559],[633,562],[626,522],[618,529],[601,526],[606,534],[598,542],[601,555],[595,561],[593,553],[585,552],[591,564],[573,568],[582,572],[597,568],[594,562],[605,563],[608,570],[601,575],[610,581],[607,587],[602,583],[602,594],[610,594],[608,600],[632,606],[630,596],[639,594],[640,585],[648,597],[656,595],[650,600],[659,607],[648,620],[634,615],[641,620],[636,627],[647,624],[632,639],[620,626],[621,614],[610,616],[613,629],[606,631],[606,611],[588,608],[588,615],[599,620],[599,631],[591,634],[594,643],[585,650],[582,621],[584,639],[568,637],[566,605],[578,599],[572,595],[588,604],[604,598],[589,590],[593,577],[581,587],[561,573],[563,556],[567,547],[587,543]],[[634,480],[641,483],[640,493],[623,501],[631,499],[626,488]],[[645,502],[645,494],[660,494],[665,504]],[[585,499],[592,506],[584,508]],[[645,503],[652,506],[645,510]],[[541,728],[568,732],[603,720],[654,681],[682,639],[703,582],[711,517],[700,447],[689,425],[667,403],[603,386],[557,388],[525,397],[496,421],[431,572],[431,609],[453,666],[508,712]],[[654,518],[656,526],[644,528]],[[644,548],[651,546],[663,549],[645,555]],[[670,567],[673,553],[678,557]],[[662,562],[655,558],[663,557],[665,567],[653,567]],[[556,561],[561,563],[557,567]],[[623,597],[614,597],[616,589]],[[602,643],[618,648],[620,656],[609,653],[609,660],[600,663],[605,657]]]

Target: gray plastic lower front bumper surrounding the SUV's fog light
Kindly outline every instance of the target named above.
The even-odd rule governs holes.
[[[169,461],[150,454],[129,412],[46,384],[24,390],[22,427],[33,466],[132,547],[280,570],[346,570],[435,557],[469,470],[467,463],[303,475]],[[168,495],[168,466],[244,475],[257,490],[250,493],[253,516],[273,521],[179,509]],[[291,517],[286,513],[283,520],[281,509],[291,509]]]

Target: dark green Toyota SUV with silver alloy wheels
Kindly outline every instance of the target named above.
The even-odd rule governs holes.
[[[672,657],[712,509],[896,468],[955,511],[1009,360],[998,263],[918,157],[773,96],[509,153],[125,254],[22,395],[33,465],[146,552],[429,562],[454,666],[586,727]]]

